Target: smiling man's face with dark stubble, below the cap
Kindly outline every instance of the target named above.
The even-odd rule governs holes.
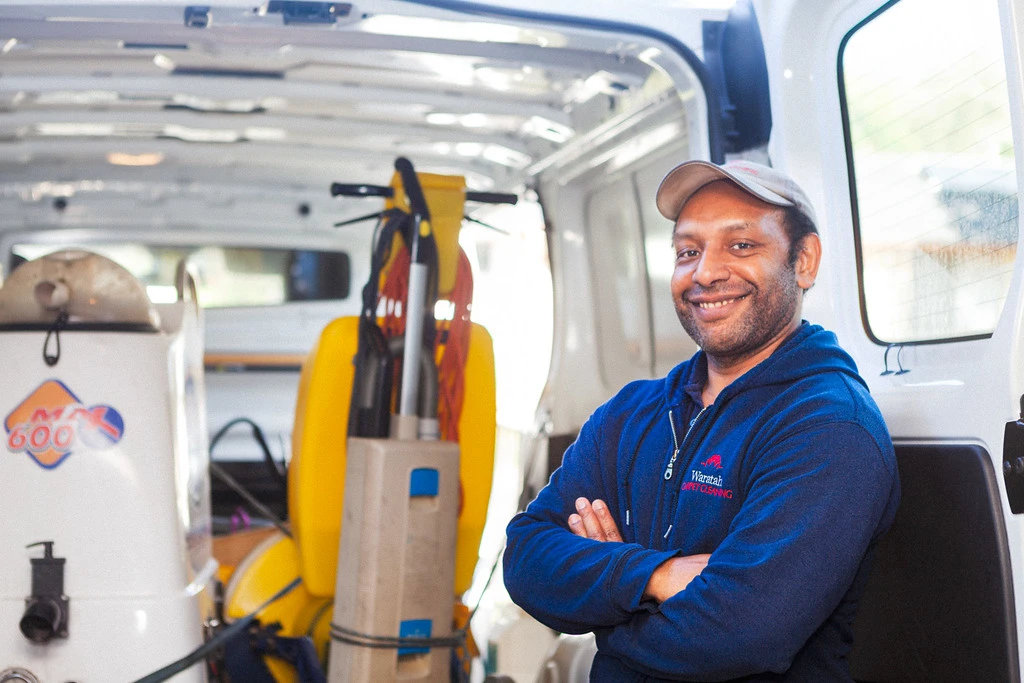
[[[673,246],[676,313],[712,358],[770,353],[800,324],[801,290],[813,284],[817,262],[809,271],[805,254],[788,263],[778,207],[728,180],[712,182],[683,207]]]

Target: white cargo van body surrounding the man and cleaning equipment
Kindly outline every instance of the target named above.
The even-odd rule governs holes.
[[[302,358],[369,275],[373,223],[334,224],[380,209],[330,184],[387,184],[404,156],[518,194],[467,206],[509,234],[462,234],[498,374],[482,584],[591,412],[695,350],[660,178],[770,163],[817,211],[805,317],[853,355],[901,468],[854,676],[1021,680],[1022,16],[1021,0],[0,0],[0,268],[65,246],[151,265],[220,250],[208,263],[250,280],[205,313],[207,423],[251,417],[287,460]],[[346,253],[347,293],[290,298],[288,273],[253,265],[274,250]],[[270,275],[262,301],[237,285]],[[280,498],[245,433],[220,449]]]

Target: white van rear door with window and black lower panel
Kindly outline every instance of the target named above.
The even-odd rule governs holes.
[[[1020,680],[1024,526],[1002,466],[1024,391],[1019,3],[758,8],[769,148],[824,223],[807,316],[856,358],[902,479],[854,676]]]

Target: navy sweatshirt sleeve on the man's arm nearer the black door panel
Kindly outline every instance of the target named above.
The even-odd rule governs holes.
[[[658,609],[598,632],[602,651],[669,679],[790,668],[891,523],[898,478],[862,426],[840,423],[771,446],[749,480],[740,513],[700,575]]]

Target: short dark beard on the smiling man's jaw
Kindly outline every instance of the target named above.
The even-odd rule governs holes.
[[[727,330],[712,332],[701,327],[686,301],[676,302],[676,314],[686,334],[709,356],[719,361],[742,359],[762,349],[793,321],[803,296],[795,274],[796,269],[788,266],[782,276],[769,283],[767,291],[755,288],[746,295],[745,314]]]

